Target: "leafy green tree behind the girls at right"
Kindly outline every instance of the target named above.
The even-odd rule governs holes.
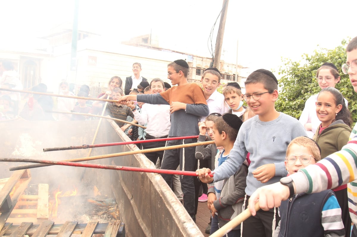
[[[348,109],[351,111],[352,120],[357,121],[357,94],[353,91],[348,75],[342,73],[341,66],[346,62],[347,41],[343,40],[341,46],[335,49],[318,49],[313,55],[303,54],[302,62],[293,62],[291,59],[282,59],[284,63],[278,74],[281,88],[279,98],[276,101],[277,111],[282,111],[292,117],[299,118],[305,107],[306,100],[321,89],[318,86],[316,71],[325,62],[336,65],[339,69],[341,81],[336,84],[336,89],[348,101]]]

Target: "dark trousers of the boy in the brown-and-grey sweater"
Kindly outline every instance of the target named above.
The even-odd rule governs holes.
[[[167,141],[166,146],[175,146],[181,144],[188,144],[197,142],[197,138],[184,139],[184,140],[172,140]],[[195,151],[196,147],[186,147],[180,149],[166,150],[164,152],[164,158],[162,159],[161,169],[176,170],[180,165],[180,170],[184,168],[185,171],[196,171],[195,163]],[[184,166],[184,167],[183,167]],[[162,178],[172,188],[172,175],[161,174]],[[193,176],[180,175],[181,190],[183,193],[183,207],[185,207],[188,214],[195,216],[195,185],[193,182]],[[197,179],[197,177],[196,177]]]

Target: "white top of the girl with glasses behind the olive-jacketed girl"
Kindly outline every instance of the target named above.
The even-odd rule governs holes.
[[[320,126],[321,121],[318,119],[316,114],[316,101],[318,94],[310,96],[305,102],[305,107],[301,113],[299,121],[305,127],[306,123],[311,123],[311,131],[306,131],[307,136],[312,138],[315,135],[317,128]],[[348,106],[348,101],[345,100],[346,106]]]

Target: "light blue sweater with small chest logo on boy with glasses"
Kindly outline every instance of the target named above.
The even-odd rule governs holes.
[[[300,136],[307,136],[305,128],[289,115],[280,113],[277,119],[269,122],[260,121],[258,116],[252,117],[242,124],[226,162],[214,170],[214,181],[235,174],[250,152],[246,194],[250,196],[257,188],[278,182],[287,175],[284,165],[286,148],[292,139]],[[275,177],[264,184],[253,177],[254,170],[271,163],[275,164]]]

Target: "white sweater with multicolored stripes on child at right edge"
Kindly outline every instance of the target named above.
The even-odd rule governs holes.
[[[296,193],[318,193],[347,184],[348,207],[353,223],[357,223],[357,124],[350,141],[341,151],[335,152],[314,165],[290,175]]]

